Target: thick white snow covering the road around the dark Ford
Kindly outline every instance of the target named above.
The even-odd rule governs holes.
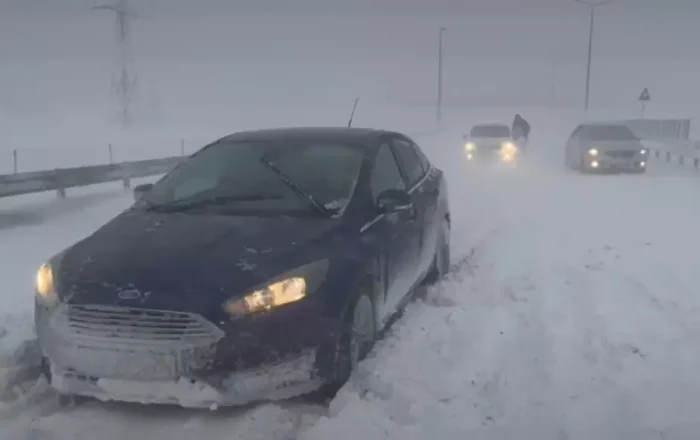
[[[425,145],[450,178],[453,274],[409,307],[330,408],[57,411],[39,394],[12,418],[0,409],[0,439],[696,439],[697,180],[581,176],[558,160],[472,170],[459,143]],[[39,260],[129,198],[106,200],[0,230],[9,335],[30,328]]]

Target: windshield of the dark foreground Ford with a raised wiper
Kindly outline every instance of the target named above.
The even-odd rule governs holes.
[[[215,143],[176,167],[135,205],[149,210],[338,212],[364,159],[337,142]]]

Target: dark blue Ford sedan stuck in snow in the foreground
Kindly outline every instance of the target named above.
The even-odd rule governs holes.
[[[38,271],[61,396],[209,407],[336,390],[449,268],[445,177],[400,133],[236,133],[134,195]]]

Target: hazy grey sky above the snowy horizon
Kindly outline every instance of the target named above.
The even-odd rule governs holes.
[[[261,112],[271,124],[339,123],[356,96],[358,123],[373,100],[432,106],[440,26],[446,107],[583,99],[588,9],[573,1],[129,3],[141,16],[132,23],[137,111],[150,125],[247,128]],[[115,17],[90,9],[99,4],[0,4],[0,129],[13,142],[24,123],[66,132],[113,123]],[[699,18],[691,1],[599,9],[591,106],[636,111],[648,87],[657,107],[691,107],[700,99]],[[313,110],[329,104],[338,113]]]

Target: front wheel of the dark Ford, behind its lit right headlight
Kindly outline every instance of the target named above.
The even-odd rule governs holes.
[[[322,395],[332,397],[348,381],[357,364],[372,351],[376,335],[374,303],[367,293],[362,292],[345,317],[332,377],[321,388]]]

